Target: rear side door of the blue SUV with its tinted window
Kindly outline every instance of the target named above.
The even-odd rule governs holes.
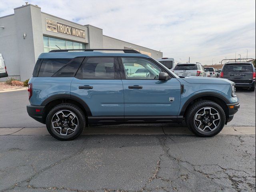
[[[122,121],[124,95],[117,58],[86,57],[72,80],[71,96],[88,105],[91,123]]]

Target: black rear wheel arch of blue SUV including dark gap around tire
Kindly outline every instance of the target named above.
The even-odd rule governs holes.
[[[82,99],[77,96],[73,96],[70,94],[58,94],[48,97],[44,102],[42,102],[41,106],[45,106],[42,114],[43,122],[46,121],[46,116],[48,112],[56,105],[62,103],[72,103],[80,107],[84,114],[86,115],[86,122],[88,122],[88,116],[92,116],[92,112],[89,106]]]

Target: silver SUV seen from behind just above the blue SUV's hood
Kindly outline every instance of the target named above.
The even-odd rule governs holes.
[[[175,66],[173,72],[178,76],[206,76],[204,67],[200,63],[180,63]]]

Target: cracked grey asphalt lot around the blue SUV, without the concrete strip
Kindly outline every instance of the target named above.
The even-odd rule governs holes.
[[[237,95],[241,109],[228,125],[255,126],[255,92]],[[3,98],[0,127],[44,126],[26,115],[26,92],[0,93]],[[68,142],[12,134],[0,136],[0,146],[0,192],[256,190],[255,134],[88,134]]]

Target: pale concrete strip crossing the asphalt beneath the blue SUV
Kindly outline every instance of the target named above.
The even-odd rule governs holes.
[[[255,135],[255,126],[225,126],[221,135]],[[90,126],[83,135],[190,135],[186,127]],[[0,128],[0,135],[49,135],[46,127]]]

